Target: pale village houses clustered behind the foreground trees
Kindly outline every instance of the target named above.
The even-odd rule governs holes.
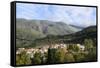
[[[84,50],[85,47],[81,44],[77,44],[77,46],[80,48],[80,50]],[[48,48],[55,48],[55,49],[58,49],[58,48],[66,48],[67,49],[67,44],[53,44],[51,46],[49,45],[46,45],[46,46],[43,46],[41,48],[18,48],[18,50],[16,51],[16,54],[21,54],[21,52],[25,51],[26,54],[30,55],[30,57],[34,57],[33,55],[35,53],[38,53],[40,52],[41,54],[44,54],[44,53],[47,53],[48,52]]]

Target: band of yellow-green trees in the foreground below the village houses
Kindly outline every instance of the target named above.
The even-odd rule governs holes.
[[[33,58],[29,58],[26,52],[22,52],[16,56],[16,64],[53,64],[53,63],[66,63],[66,62],[83,62],[83,61],[96,61],[96,47],[93,46],[91,39],[85,39],[85,50],[81,51],[80,48],[73,44],[68,45],[66,48],[49,48],[47,53],[42,54],[36,52]]]

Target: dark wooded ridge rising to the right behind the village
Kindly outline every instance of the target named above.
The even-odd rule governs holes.
[[[96,26],[89,26],[87,28],[84,28],[83,30],[76,32],[76,33],[72,33],[72,34],[68,34],[68,35],[58,35],[58,36],[54,36],[54,35],[48,35],[45,38],[41,38],[41,39],[36,39],[34,42],[37,45],[42,45],[44,44],[51,44],[51,43],[80,43],[80,44],[84,44],[84,40],[85,39],[92,39],[95,44],[97,41],[97,27]]]

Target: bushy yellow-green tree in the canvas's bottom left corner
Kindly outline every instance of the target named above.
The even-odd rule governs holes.
[[[30,57],[23,51],[21,54],[16,55],[16,65],[28,65],[31,64]]]

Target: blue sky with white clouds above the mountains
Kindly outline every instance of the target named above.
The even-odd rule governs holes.
[[[96,25],[96,8],[17,3],[16,18],[49,20],[87,27]]]

